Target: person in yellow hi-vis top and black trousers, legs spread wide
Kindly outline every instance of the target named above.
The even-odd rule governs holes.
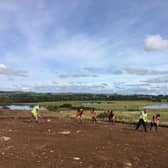
[[[141,125],[143,125],[144,131],[147,132],[147,126],[146,126],[147,124],[146,124],[146,122],[147,122],[147,111],[144,110],[144,111],[141,111],[141,112],[140,112],[139,121],[138,121],[138,123],[137,123],[136,130],[137,130]]]

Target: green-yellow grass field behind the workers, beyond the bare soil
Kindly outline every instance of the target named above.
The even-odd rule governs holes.
[[[41,106],[53,107],[51,111],[59,112],[68,117],[74,117],[77,107],[83,106],[85,109],[85,119],[90,119],[90,109],[95,108],[98,116],[103,116],[107,110],[113,110],[117,121],[137,122],[139,112],[147,105],[161,104],[160,102],[151,101],[58,101],[58,102],[41,102]],[[168,125],[168,108],[165,109],[147,109],[148,120],[154,114],[161,115],[161,125]],[[106,119],[100,117],[98,119]]]

